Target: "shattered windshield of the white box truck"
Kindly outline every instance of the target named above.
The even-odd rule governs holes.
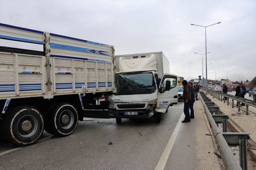
[[[117,91],[135,91],[156,89],[152,73],[117,74]]]

